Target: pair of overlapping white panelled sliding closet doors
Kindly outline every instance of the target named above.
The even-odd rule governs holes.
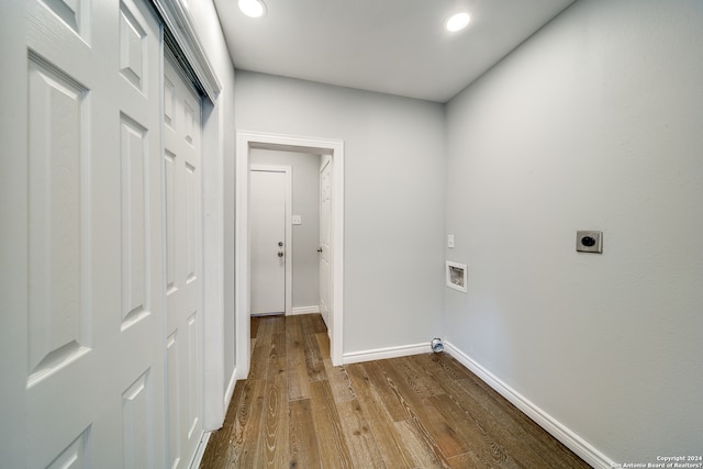
[[[26,102],[3,129],[0,466],[189,466],[201,101],[147,0],[3,1],[0,20]]]

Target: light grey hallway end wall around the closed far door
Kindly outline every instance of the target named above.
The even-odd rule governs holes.
[[[293,308],[317,306],[320,301],[320,155],[252,148],[249,165],[290,166],[292,211],[302,224],[292,230]]]

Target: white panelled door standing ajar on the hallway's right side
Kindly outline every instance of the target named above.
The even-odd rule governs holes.
[[[320,165],[320,313],[332,328],[332,158],[322,157]]]

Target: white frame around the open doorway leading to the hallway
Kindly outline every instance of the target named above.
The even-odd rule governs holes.
[[[333,366],[342,365],[344,317],[344,141],[282,135],[256,131],[237,131],[236,150],[236,226],[235,226],[235,326],[236,377],[246,379],[250,364],[249,324],[249,149],[332,156],[332,334],[330,348]]]

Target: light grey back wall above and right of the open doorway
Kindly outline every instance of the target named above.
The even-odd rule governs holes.
[[[428,344],[443,304],[443,107],[242,70],[236,98],[237,129],[344,141],[344,353]]]

